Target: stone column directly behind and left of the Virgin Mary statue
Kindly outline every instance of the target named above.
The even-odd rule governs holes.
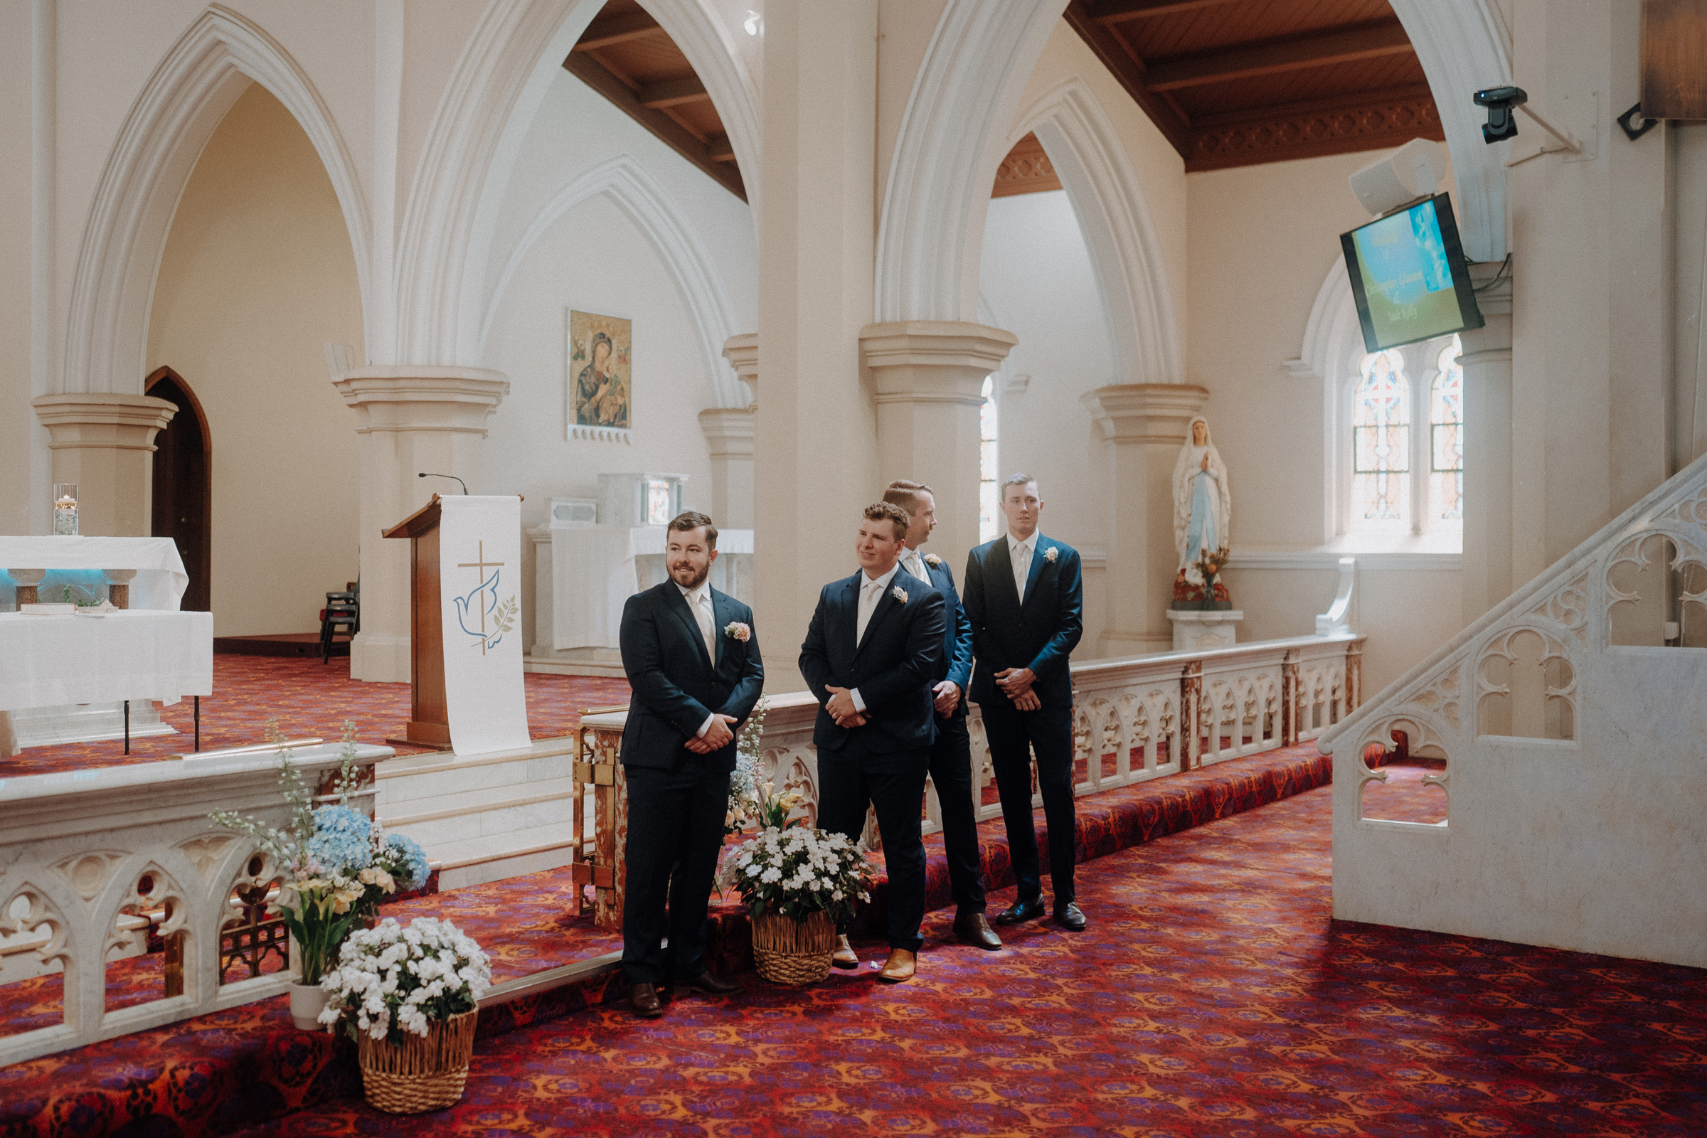
[[[1113,384],[1082,398],[1110,459],[1108,628],[1104,655],[1171,652],[1168,604],[1180,572],[1173,543],[1173,466],[1191,416],[1209,403],[1195,384]]]

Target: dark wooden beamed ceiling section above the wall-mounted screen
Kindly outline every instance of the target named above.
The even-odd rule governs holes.
[[[1070,0],[1063,19],[1188,169],[1441,136],[1388,0]]]

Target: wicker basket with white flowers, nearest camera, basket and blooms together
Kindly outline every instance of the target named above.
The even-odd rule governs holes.
[[[321,986],[321,1022],[355,1037],[369,1106],[420,1114],[463,1097],[492,964],[456,925],[387,916],[343,942]]]

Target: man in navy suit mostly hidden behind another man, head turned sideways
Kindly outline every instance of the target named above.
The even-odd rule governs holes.
[[[954,570],[934,553],[920,556],[937,527],[937,498],[923,483],[896,479],[883,491],[883,500],[906,510],[906,548],[901,568],[929,580],[942,594],[946,618],[942,664],[930,689],[937,710],[937,739],[930,744],[930,781],[937,788],[942,810],[942,851],[949,860],[949,884],[954,887],[954,935],[966,943],[1002,947],[1002,938],[983,916],[983,865],[978,856],[978,807],[973,804],[971,735],[966,732],[966,689],[971,686],[971,621],[954,590]]]

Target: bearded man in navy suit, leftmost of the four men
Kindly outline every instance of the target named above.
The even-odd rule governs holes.
[[[628,597],[621,628],[623,671],[633,689],[621,752],[628,783],[623,973],[633,984],[630,1007],[644,1019],[664,1013],[657,990],[671,978],[707,995],[741,991],[705,967],[705,909],[724,845],[736,732],[765,686],[753,609],[708,580],[717,525],[688,512],[666,534],[669,580]]]

